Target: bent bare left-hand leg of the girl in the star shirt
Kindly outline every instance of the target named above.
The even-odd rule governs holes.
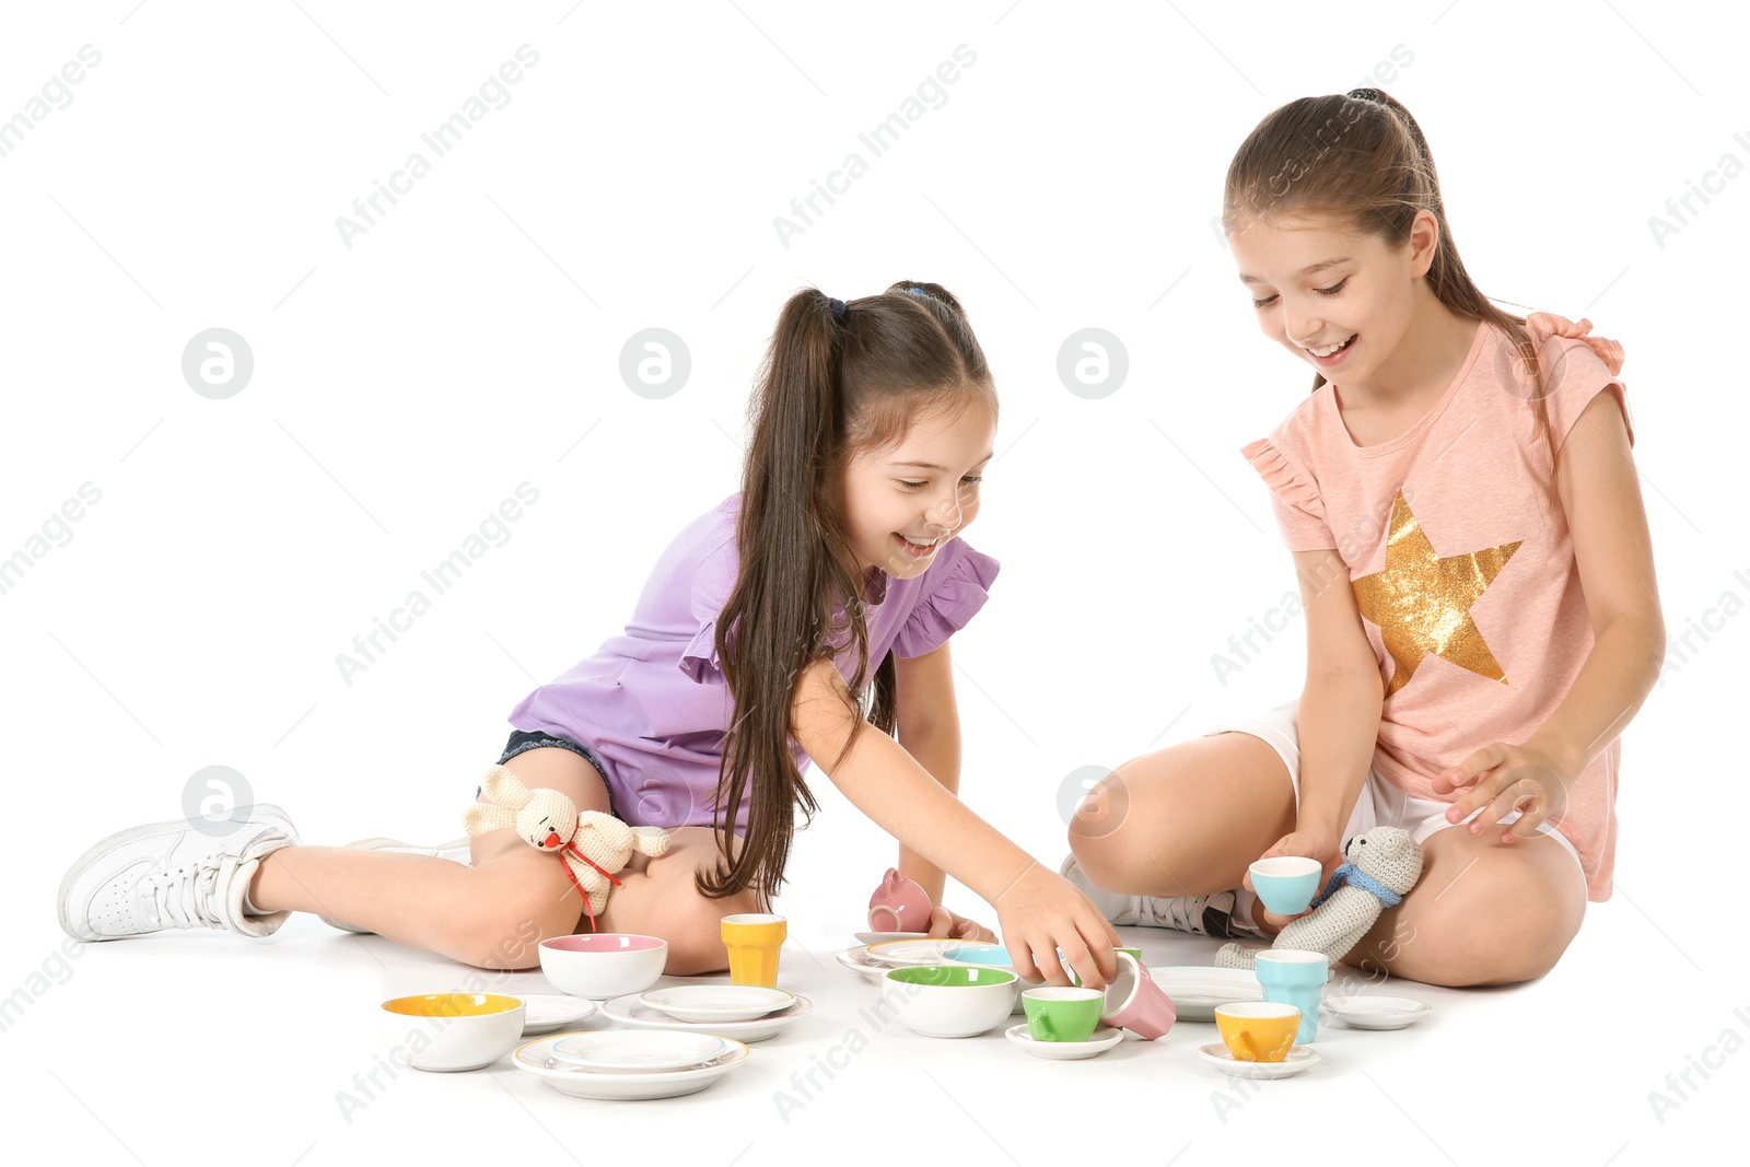
[[[1218,733],[1134,758],[1088,793],[1069,849],[1094,882],[1130,896],[1209,896],[1295,826],[1288,766],[1262,738]]]

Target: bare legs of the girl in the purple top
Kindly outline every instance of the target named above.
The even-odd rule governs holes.
[[[607,810],[602,775],[579,754],[530,749],[504,763],[523,786],[555,789],[578,810]],[[704,836],[704,847],[696,836]],[[710,831],[676,831],[667,856],[635,857],[609,892],[602,931],[640,931],[668,941],[670,975],[726,968],[718,919],[754,912],[752,898],[705,901],[691,875],[714,856]],[[539,943],[565,936],[583,901],[558,856],[511,829],[472,836],[472,866],[436,856],[345,847],[285,847],[264,857],[250,885],[261,912],[315,912],[378,936],[480,968],[536,968]]]

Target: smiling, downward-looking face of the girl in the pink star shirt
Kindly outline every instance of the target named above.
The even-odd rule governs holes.
[[[1402,248],[1330,215],[1251,220],[1228,238],[1264,334],[1342,387],[1370,387],[1416,315],[1437,224],[1423,212]]]

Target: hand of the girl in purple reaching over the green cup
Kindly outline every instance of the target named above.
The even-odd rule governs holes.
[[[1029,983],[1069,985],[1057,950],[1088,989],[1104,989],[1118,975],[1118,933],[1064,877],[1031,864],[996,899],[1003,943],[1015,973]]]

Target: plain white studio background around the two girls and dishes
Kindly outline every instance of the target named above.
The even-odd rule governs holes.
[[[1750,621],[1720,621],[1750,600],[1736,474],[1750,178],[1692,203],[1662,247],[1648,215],[1724,154],[1750,164],[1746,31],[1717,7],[1643,0],[9,10],[0,119],[80,45],[102,63],[0,157],[0,556],[40,551],[32,537],[82,483],[102,499],[0,595],[18,822],[0,992],[24,992],[0,1034],[7,1113],[80,1162],[154,1165],[567,1150],[861,1162],[892,1136],[1029,1165],[1082,1150],[1230,1160],[1234,1137],[1311,1146],[1309,1162],[1698,1153],[1750,1081],[1741,880],[1726,878],[1746,807],[1724,745]],[[539,63],[509,103],[434,157],[420,135],[523,44]],[[945,103],[872,157],[858,133],[957,45],[976,61]],[[830,954],[894,857],[824,780],[784,899],[816,1027],[693,1099],[592,1106],[500,1066],[404,1074],[348,1123],[334,1095],[378,1050],[374,1003],[455,983],[460,966],[312,919],[266,945],[159,936],[56,959],[66,864],[177,817],[208,765],[243,773],[310,842],[458,833],[506,712],[614,635],[656,553],[735,488],[749,385],[805,285],[849,299],[940,282],[990,359],[1001,457],[970,542],[1003,574],[956,639],[962,796],[1055,864],[1073,770],[1298,688],[1298,621],[1227,684],[1211,668],[1293,590],[1237,450],[1311,383],[1260,339],[1211,219],[1260,117],[1367,82],[1395,49],[1412,59],[1377,84],[1428,135],[1482,289],[1521,313],[1591,317],[1628,352],[1678,667],[1624,735],[1617,896],[1549,978],[1430,990],[1444,1029],[1342,1046],[1239,1116],[1211,1102],[1225,1080],[1188,1036],[1059,1067],[999,1038],[894,1027],[784,1122],[774,1092],[864,1003]],[[348,248],[336,217],[413,150],[430,173]],[[852,150],[868,173],[786,247],[774,217]],[[210,327],[254,353],[226,401],[180,371]],[[691,353],[662,401],[618,373],[646,327]],[[1055,371],[1083,327],[1129,352],[1099,401]],[[523,481],[539,502],[508,542],[348,684],[336,654]],[[1717,630],[1685,649],[1710,611]],[[1727,1029],[1732,1053],[1706,1055],[1718,1069],[1692,1074],[1661,1122],[1648,1092]]]

